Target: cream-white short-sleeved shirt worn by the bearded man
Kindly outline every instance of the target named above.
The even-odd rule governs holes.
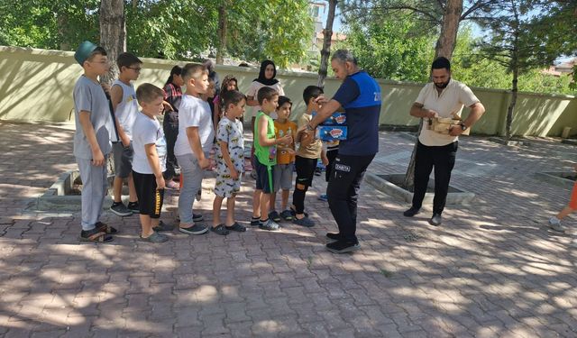
[[[441,92],[441,95],[439,95],[433,82],[426,84],[426,86],[421,89],[421,92],[418,93],[415,102],[423,105],[424,109],[437,112],[439,117],[451,118],[453,115],[461,116],[464,105],[471,106],[480,101],[477,96],[472,94],[471,88],[459,81],[451,79],[447,87]],[[425,119],[424,123],[427,123],[427,120],[428,119]],[[428,130],[426,126],[423,126],[418,136],[418,141],[426,146],[444,146],[458,139],[458,136],[445,135]]]

